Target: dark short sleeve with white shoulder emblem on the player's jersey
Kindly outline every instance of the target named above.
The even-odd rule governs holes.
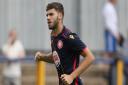
[[[87,47],[75,33],[69,34],[67,41],[70,49],[79,54]]]

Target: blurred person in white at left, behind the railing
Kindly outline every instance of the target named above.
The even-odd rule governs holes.
[[[20,59],[25,57],[25,50],[17,38],[15,29],[10,30],[8,40],[2,51],[7,60],[3,68],[3,85],[21,85]]]

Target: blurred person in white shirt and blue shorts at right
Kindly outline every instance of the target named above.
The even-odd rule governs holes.
[[[124,42],[123,36],[120,34],[118,30],[118,16],[115,5],[117,4],[117,0],[108,0],[105,3],[103,8],[103,21],[104,21],[104,28],[105,28],[105,55],[108,57],[113,58],[117,53],[117,45],[122,46]],[[109,85],[116,85],[112,84],[115,80],[112,78],[112,69],[115,68],[116,60],[114,64],[110,66],[110,73],[109,73]],[[115,75],[114,75],[115,76]]]

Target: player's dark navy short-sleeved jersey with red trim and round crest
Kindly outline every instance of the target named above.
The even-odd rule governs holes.
[[[51,47],[59,85],[63,85],[60,76],[72,73],[79,66],[80,54],[87,47],[77,34],[72,33],[66,27],[58,36],[51,36]],[[71,85],[82,85],[80,78],[74,79]]]

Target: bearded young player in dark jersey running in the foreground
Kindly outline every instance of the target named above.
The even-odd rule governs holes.
[[[77,34],[63,25],[64,8],[61,3],[47,5],[47,21],[51,32],[52,52],[36,53],[36,60],[54,63],[59,77],[59,85],[83,85],[79,76],[95,60],[87,46]],[[79,65],[80,55],[86,59]]]

